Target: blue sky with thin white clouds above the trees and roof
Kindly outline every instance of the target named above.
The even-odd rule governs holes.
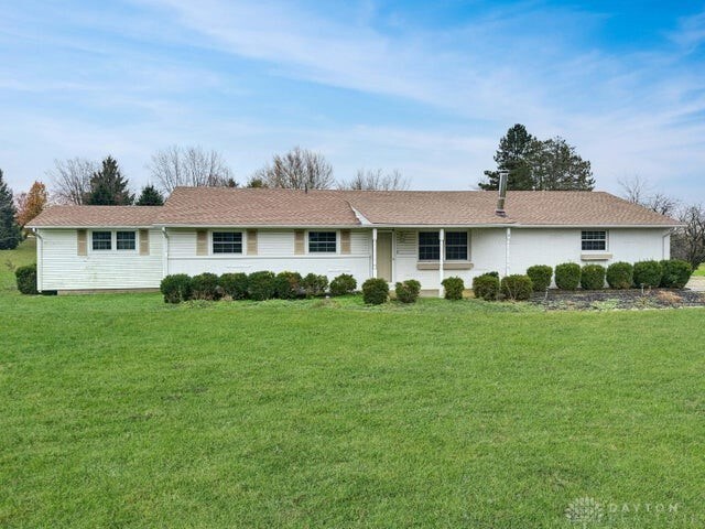
[[[138,187],[170,144],[246,181],[272,153],[336,177],[466,190],[524,123],[598,188],[640,175],[705,202],[705,2],[0,1],[0,168],[110,153]]]

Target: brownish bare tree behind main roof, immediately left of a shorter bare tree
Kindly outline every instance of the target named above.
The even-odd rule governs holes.
[[[262,187],[329,190],[333,166],[323,154],[295,147],[286,154],[274,154],[272,163],[257,171],[250,182],[262,183]]]

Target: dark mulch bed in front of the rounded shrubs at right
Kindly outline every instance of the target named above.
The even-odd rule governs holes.
[[[547,296],[534,294],[531,303],[542,305],[547,311],[608,311],[630,309],[675,309],[683,306],[705,306],[705,292],[693,290],[640,289],[594,290],[568,292],[550,290]]]

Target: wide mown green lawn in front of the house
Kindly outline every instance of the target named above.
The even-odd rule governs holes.
[[[0,527],[583,527],[581,497],[585,527],[705,526],[703,310],[0,313]]]

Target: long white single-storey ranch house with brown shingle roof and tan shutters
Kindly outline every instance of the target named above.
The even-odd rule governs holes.
[[[53,206],[30,225],[40,291],[158,289],[172,273],[441,281],[670,257],[672,218],[601,192],[178,187],[164,206]]]

